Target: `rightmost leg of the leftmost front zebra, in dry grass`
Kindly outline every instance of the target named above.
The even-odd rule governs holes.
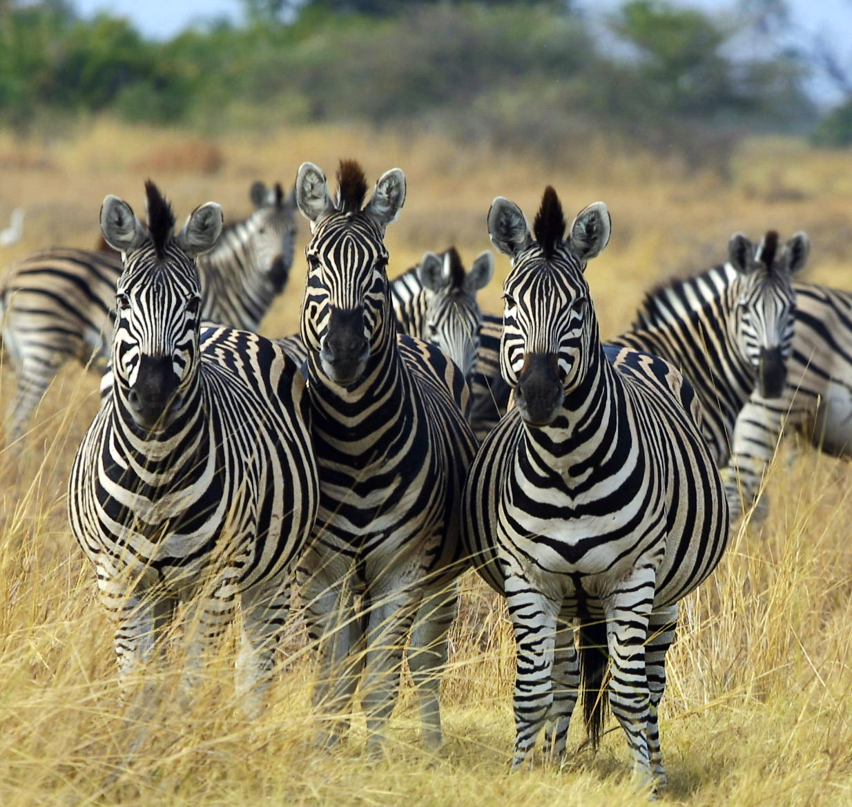
[[[243,630],[236,690],[246,718],[260,716],[272,680],[275,649],[290,612],[289,574],[281,573],[242,595]]]

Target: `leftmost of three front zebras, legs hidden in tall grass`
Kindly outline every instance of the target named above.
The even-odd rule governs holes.
[[[306,383],[267,339],[200,326],[195,257],[219,237],[219,205],[175,235],[170,204],[152,182],[146,191],[147,228],[115,196],[101,208],[124,256],[112,387],[74,459],[68,515],[116,625],[122,677],[152,660],[174,606],[191,599],[191,695],[239,602],[237,693],[256,716],[319,504]]]

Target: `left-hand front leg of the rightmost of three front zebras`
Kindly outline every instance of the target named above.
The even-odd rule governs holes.
[[[561,602],[548,599],[519,577],[506,579],[506,602],[515,627],[515,753],[521,766],[533,747],[553,703],[551,673],[556,645],[556,617]]]

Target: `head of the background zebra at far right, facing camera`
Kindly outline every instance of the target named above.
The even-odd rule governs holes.
[[[792,277],[808,262],[809,249],[805,233],[780,245],[778,233],[771,230],[757,246],[742,233],[734,233],[728,244],[728,263],[736,272],[736,343],[764,398],[784,391],[795,325]]]

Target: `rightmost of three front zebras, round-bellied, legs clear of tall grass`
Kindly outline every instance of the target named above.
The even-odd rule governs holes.
[[[512,766],[545,722],[551,751],[564,753],[581,684],[596,744],[607,648],[610,705],[636,769],[660,783],[657,708],[676,603],[728,540],[698,399],[664,360],[602,346],[583,271],[607,245],[606,205],[582,210],[566,239],[552,187],[533,232],[498,197],[488,230],[511,258],[500,366],[516,405],[470,467],[463,540],[515,628]]]

